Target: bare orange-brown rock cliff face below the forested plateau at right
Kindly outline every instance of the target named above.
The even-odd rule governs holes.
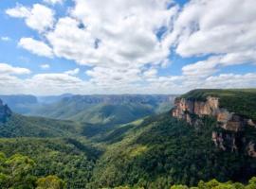
[[[208,96],[204,101],[176,98],[172,114],[174,117],[186,120],[194,126],[198,125],[198,121],[203,116],[216,118],[216,128],[222,128],[228,132],[212,131],[211,140],[215,146],[222,150],[229,149],[231,151],[237,151],[240,146],[246,146],[247,154],[256,158],[255,142],[248,141],[241,134],[246,127],[256,128],[256,124],[251,119],[236,112],[229,112],[220,108],[219,98]]]

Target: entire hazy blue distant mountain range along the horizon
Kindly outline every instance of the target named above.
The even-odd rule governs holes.
[[[13,112],[91,124],[123,124],[171,110],[175,95],[0,95]]]

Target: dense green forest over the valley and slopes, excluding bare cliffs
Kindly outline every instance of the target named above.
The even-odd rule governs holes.
[[[219,94],[204,90],[184,96],[199,96],[199,99],[214,95],[213,92]],[[233,92],[231,101],[244,93],[253,98],[253,90]],[[229,91],[226,94],[232,96]],[[222,95],[218,96],[222,99]],[[224,99],[229,104],[229,98]],[[243,100],[241,96],[239,99]],[[247,105],[247,100],[239,101],[241,109],[243,103]],[[255,107],[251,112],[255,112]],[[216,128],[217,121],[210,116],[198,118],[200,124],[192,126],[171,114],[170,111],[146,117],[142,114],[137,120],[123,124],[92,124],[12,112],[0,123],[0,186],[256,188],[253,178],[256,159],[248,155],[247,148],[223,150],[211,140],[212,131],[216,130],[255,140],[255,128],[247,127],[241,132]]]

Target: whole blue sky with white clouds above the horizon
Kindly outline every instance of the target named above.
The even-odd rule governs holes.
[[[256,87],[255,0],[1,0],[0,94]]]

